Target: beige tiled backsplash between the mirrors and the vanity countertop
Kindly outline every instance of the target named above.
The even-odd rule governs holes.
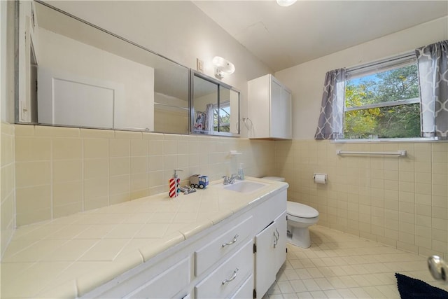
[[[272,141],[15,125],[17,225],[167,192],[173,169],[183,184],[221,179],[237,162],[272,174],[273,156]]]

